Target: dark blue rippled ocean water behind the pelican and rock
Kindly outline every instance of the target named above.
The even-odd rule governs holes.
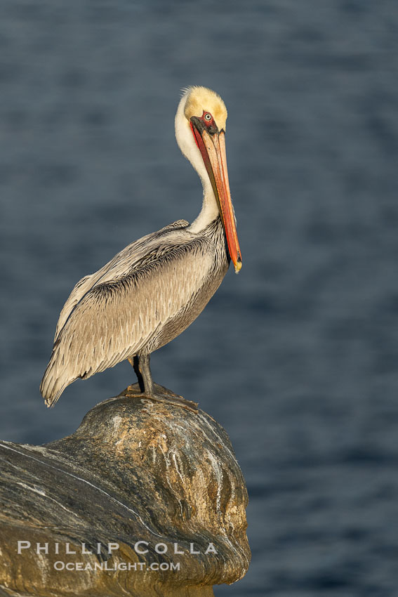
[[[74,431],[124,362],[48,410],[80,277],[201,204],[173,118],[229,110],[244,266],[152,357],[220,421],[248,485],[251,568],[215,595],[397,594],[398,8],[389,1],[6,1],[0,7],[0,437]]]

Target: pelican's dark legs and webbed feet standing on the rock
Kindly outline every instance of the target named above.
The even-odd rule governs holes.
[[[193,412],[198,412],[197,402],[185,400],[183,396],[178,396],[167,388],[158,386],[157,383],[154,383],[150,368],[150,355],[135,355],[133,359],[129,358],[128,362],[133,365],[135,374],[138,378],[140,394],[135,394],[137,398],[142,396],[149,398],[150,400],[156,400],[157,402],[170,402],[175,406],[180,406],[186,408],[187,410],[192,410]],[[128,391],[133,391],[134,386],[128,386],[127,389]]]

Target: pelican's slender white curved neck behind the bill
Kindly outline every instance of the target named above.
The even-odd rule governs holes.
[[[175,138],[177,139],[178,147],[180,147],[181,152],[191,162],[192,166],[199,174],[199,178],[203,185],[203,204],[201,206],[201,212],[189,227],[191,232],[200,232],[217,218],[219,211],[210,178],[208,178],[208,173],[203,158],[201,157],[201,152],[195,143],[190,123],[187,121],[184,114],[188,95],[189,91],[184,94],[178,104],[177,114],[175,114]]]

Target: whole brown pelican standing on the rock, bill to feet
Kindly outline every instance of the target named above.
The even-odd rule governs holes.
[[[190,87],[175,114],[175,137],[203,185],[199,216],[174,222],[129,244],[82,278],[62,308],[40,391],[53,406],[69,383],[128,359],[142,395],[166,400],[155,386],[150,354],[186,329],[241,253],[225,153],[227,109],[217,93]],[[163,388],[165,389],[165,388]],[[189,405],[173,395],[173,402]]]

